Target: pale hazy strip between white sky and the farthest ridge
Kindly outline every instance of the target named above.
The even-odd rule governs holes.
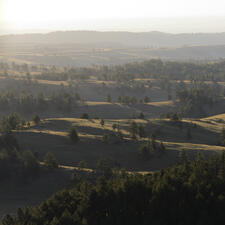
[[[164,33],[222,33],[225,32],[224,17],[180,17],[180,18],[127,18],[82,21],[59,21],[48,25],[26,28],[10,28],[0,23],[0,35],[24,33],[49,33],[54,31],[127,31]]]

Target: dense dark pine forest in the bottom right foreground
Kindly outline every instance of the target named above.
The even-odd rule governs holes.
[[[148,175],[119,172],[80,183],[37,207],[18,209],[3,225],[211,225],[225,223],[225,153]]]

